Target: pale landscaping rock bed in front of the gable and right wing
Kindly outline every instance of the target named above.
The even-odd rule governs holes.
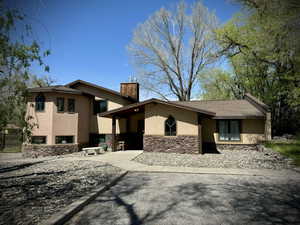
[[[204,155],[144,152],[134,160],[146,165],[241,169],[287,169],[291,160],[273,150],[259,147],[258,151],[220,150],[219,154]]]

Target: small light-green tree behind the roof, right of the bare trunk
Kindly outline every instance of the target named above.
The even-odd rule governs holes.
[[[211,69],[199,75],[200,99],[234,99],[239,96],[233,75],[222,69]]]

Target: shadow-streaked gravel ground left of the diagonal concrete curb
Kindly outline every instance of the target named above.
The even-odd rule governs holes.
[[[101,162],[48,157],[0,161],[0,224],[37,224],[122,171]]]

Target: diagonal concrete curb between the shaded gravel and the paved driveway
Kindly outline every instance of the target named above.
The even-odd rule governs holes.
[[[104,187],[95,189],[91,193],[86,196],[81,197],[80,199],[76,200],[69,206],[63,208],[58,213],[53,214],[50,218],[40,223],[41,225],[62,225],[67,222],[72,216],[78,213],[84,206],[89,204],[93,201],[98,195],[107,191],[110,187],[117,184],[126,174],[128,171],[123,172],[121,175],[113,179],[109,184],[105,185]]]

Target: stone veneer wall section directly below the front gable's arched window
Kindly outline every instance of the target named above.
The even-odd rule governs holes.
[[[198,136],[178,135],[165,137],[144,135],[144,151],[198,154]]]

